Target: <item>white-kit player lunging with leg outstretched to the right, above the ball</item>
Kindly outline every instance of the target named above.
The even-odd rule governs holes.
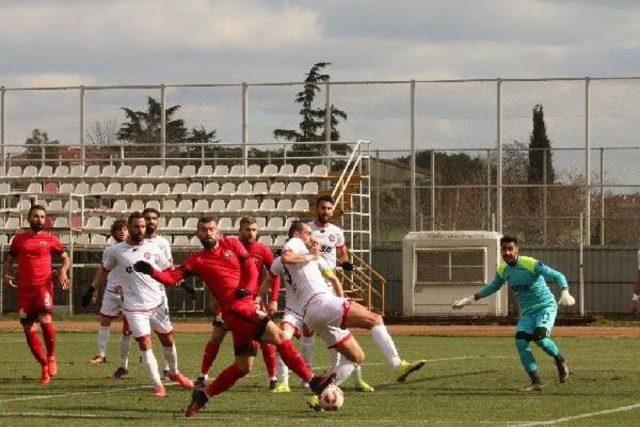
[[[318,333],[328,348],[335,348],[344,355],[347,360],[343,360],[335,368],[339,383],[351,375],[355,364],[364,361],[364,352],[348,328],[367,329],[371,332],[376,347],[394,369],[397,380],[404,382],[409,374],[422,368],[426,361],[402,360],[382,317],[357,302],[344,298],[340,281],[331,266],[321,257],[319,247],[313,252],[309,251],[314,244],[311,234],[308,224],[294,221],[289,228],[289,240],[282,249],[282,255],[272,266],[274,273],[284,276],[288,291],[287,312],[283,322],[287,335],[290,336],[296,328],[301,328],[301,322],[304,322]],[[332,282],[335,292],[328,289],[321,272]],[[312,400],[310,405],[317,406],[317,401]]]

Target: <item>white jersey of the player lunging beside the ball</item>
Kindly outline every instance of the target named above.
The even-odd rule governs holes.
[[[283,253],[290,251],[299,255],[306,255],[309,250],[297,237],[289,239],[282,248]],[[282,276],[286,289],[286,307],[288,310],[303,315],[307,303],[318,294],[330,294],[330,290],[322,276],[322,270],[330,266],[320,258],[301,264],[284,265],[281,257],[271,264],[271,272]]]

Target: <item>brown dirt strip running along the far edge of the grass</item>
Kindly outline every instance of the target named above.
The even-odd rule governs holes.
[[[177,332],[209,333],[211,323],[208,321],[181,322],[174,319]],[[120,321],[114,322],[114,330],[120,328]],[[97,331],[98,322],[62,320],[55,322],[56,329],[61,332]],[[435,326],[435,325],[389,325],[392,335],[430,335],[430,336],[460,336],[460,337],[510,337],[515,333],[513,326]],[[0,321],[0,331],[20,332],[22,327],[15,320]],[[355,330],[357,334],[366,331]],[[558,326],[553,329],[556,337],[578,338],[640,338],[638,327],[598,327],[598,326]]]

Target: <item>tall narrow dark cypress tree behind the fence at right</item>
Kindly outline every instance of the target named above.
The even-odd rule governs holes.
[[[551,160],[551,141],[547,137],[542,104],[536,104],[533,107],[533,131],[529,137],[529,149],[529,183],[545,183],[544,169],[546,165],[546,184],[553,184],[555,172]]]

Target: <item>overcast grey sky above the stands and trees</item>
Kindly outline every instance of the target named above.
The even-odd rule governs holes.
[[[640,75],[639,23],[637,1],[4,0],[0,85],[299,81],[320,60],[333,63],[333,80],[634,76]],[[526,139],[531,107],[542,102],[557,145],[580,146],[583,87],[505,87],[506,138]],[[294,93],[250,90],[252,138],[267,139],[273,128],[295,125]],[[408,147],[407,88],[332,93],[334,103],[350,113],[345,137]],[[87,101],[87,114],[119,120],[119,106],[142,108],[149,94],[155,92],[96,94]],[[190,125],[215,127],[227,141],[237,139],[236,91],[197,95],[202,93],[175,91],[169,100],[183,105]],[[9,139],[23,138],[35,125],[73,139],[76,123],[65,115],[75,117],[75,94],[64,102],[54,95],[39,101],[17,96],[7,95]],[[594,87],[592,111],[602,119],[594,124],[594,138],[616,132],[600,145],[635,142],[639,99],[633,83]],[[417,103],[422,146],[495,143],[494,85],[419,88]],[[610,109],[613,118],[604,113]],[[560,123],[566,126],[560,129]]]

